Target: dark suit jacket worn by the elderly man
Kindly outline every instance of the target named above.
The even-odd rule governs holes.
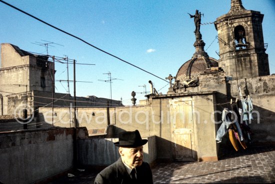
[[[136,168],[138,184],[152,184],[152,172],[148,163],[143,162],[140,167]],[[108,166],[97,174],[94,184],[132,184],[125,166],[119,158],[115,163]]]

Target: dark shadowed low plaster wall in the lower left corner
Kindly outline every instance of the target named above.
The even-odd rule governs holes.
[[[72,167],[73,129],[0,133],[0,181],[30,184]]]

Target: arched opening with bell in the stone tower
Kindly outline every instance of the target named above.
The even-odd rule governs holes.
[[[238,25],[234,28],[234,41],[236,50],[247,48],[245,35],[245,30],[241,25]]]

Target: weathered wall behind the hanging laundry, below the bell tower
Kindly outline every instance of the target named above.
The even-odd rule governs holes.
[[[272,136],[272,131],[275,130],[273,123],[275,120],[275,107],[273,105],[275,102],[275,75],[225,81],[223,71],[209,70],[200,75],[198,88],[201,91],[217,91],[215,108],[222,111],[223,108],[231,109],[230,99],[235,100],[235,97],[238,96],[238,86],[244,97],[250,95],[254,110],[259,113],[259,123],[257,123],[258,117],[255,113],[253,114],[254,120],[249,124],[253,133],[252,141],[254,143],[274,142],[275,137]],[[218,121],[221,120],[221,115],[216,115]]]

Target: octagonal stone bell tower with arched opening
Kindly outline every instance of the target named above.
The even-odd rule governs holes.
[[[231,0],[228,13],[218,17],[218,65],[232,79],[269,75],[267,44],[263,42],[263,14],[246,10],[241,0]]]

